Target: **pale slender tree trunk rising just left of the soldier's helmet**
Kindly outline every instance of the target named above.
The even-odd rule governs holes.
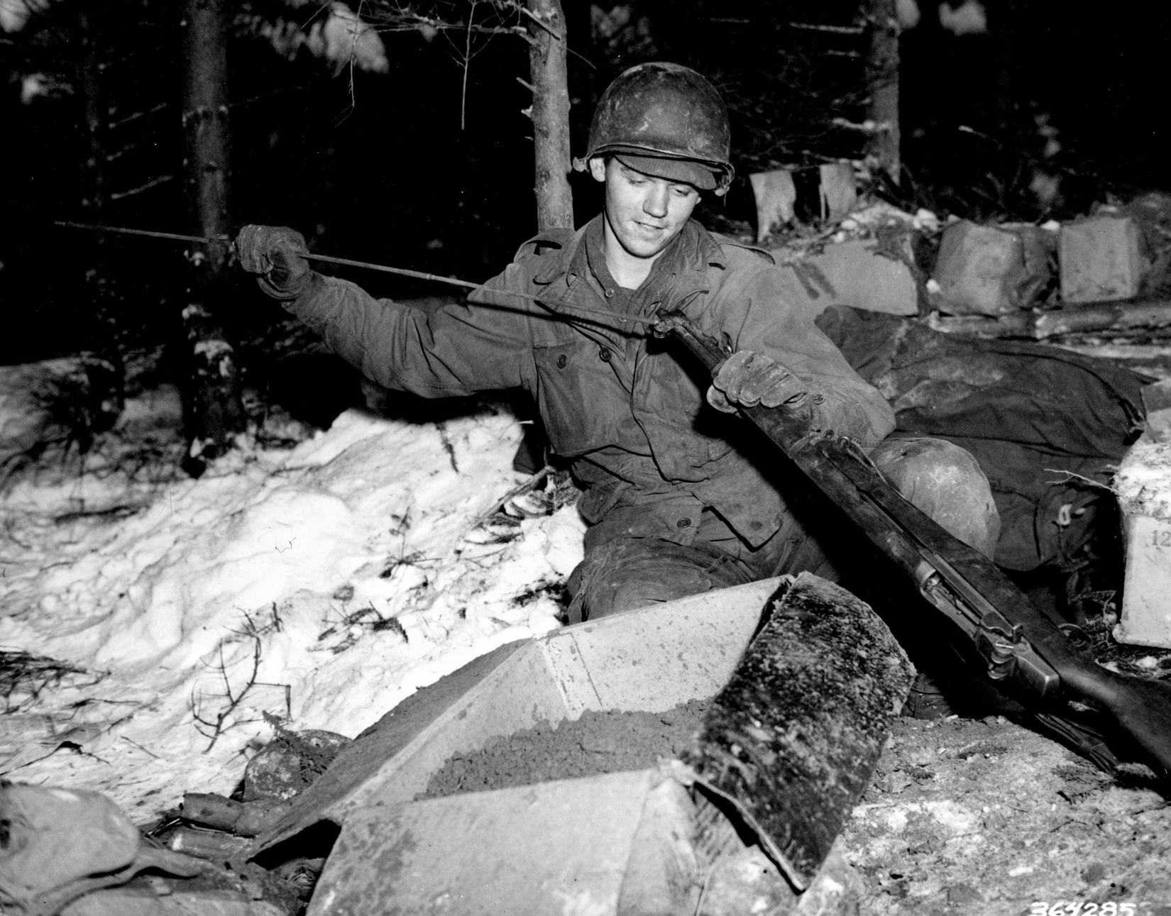
[[[529,32],[533,78],[533,148],[536,159],[536,224],[545,230],[574,225],[569,189],[569,76],[566,63],[566,16],[561,0],[527,0],[542,23]]]

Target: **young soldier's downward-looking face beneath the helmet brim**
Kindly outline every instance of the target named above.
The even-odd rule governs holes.
[[[605,183],[609,234],[631,258],[653,260],[679,234],[699,203],[699,191],[636,172],[610,157],[590,159],[590,175]]]

